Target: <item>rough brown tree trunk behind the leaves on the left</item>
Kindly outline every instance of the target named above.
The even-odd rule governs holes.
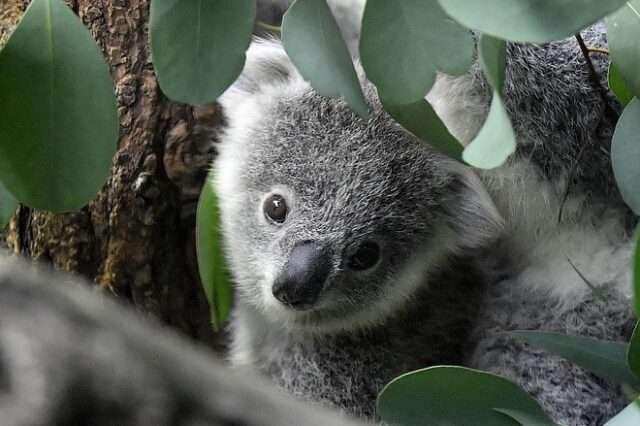
[[[28,3],[2,0],[0,44]],[[194,243],[197,199],[214,155],[215,106],[194,109],[163,96],[148,46],[150,0],[67,3],[111,68],[118,150],[108,181],[88,206],[59,215],[21,206],[5,242],[14,253],[81,274],[138,310],[215,344]]]

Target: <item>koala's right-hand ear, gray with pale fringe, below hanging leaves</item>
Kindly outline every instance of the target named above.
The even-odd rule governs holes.
[[[455,196],[446,203],[445,220],[458,246],[478,248],[495,241],[504,233],[505,220],[478,176],[461,166],[454,182]]]

